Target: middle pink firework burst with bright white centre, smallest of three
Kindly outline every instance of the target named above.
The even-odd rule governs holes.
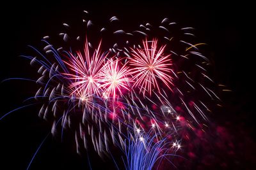
[[[122,96],[123,90],[129,90],[129,82],[131,82],[129,75],[126,64],[121,66],[120,60],[109,59],[100,76],[100,88],[104,89],[103,96],[112,96],[113,100],[115,100],[117,92]]]

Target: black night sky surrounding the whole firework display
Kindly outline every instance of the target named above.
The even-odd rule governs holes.
[[[243,4],[242,4],[243,3]],[[184,27],[195,27],[196,36],[206,42],[214,60],[214,80],[227,85],[232,92],[223,94],[225,108],[212,118],[225,128],[237,146],[234,157],[223,169],[255,168],[254,78],[255,51],[252,23],[253,11],[244,2],[218,1],[204,3],[92,2],[47,1],[8,2],[1,5],[0,80],[12,77],[36,78],[29,61],[19,57],[28,54],[27,45],[37,46],[43,36],[58,34],[62,24],[80,21],[77,16],[89,11],[93,20],[120,18],[127,27],[138,27],[145,20],[160,22],[170,18]],[[0,115],[22,106],[23,99],[33,96],[36,86],[31,82],[8,81],[0,84]],[[51,125],[38,118],[38,107],[15,111],[0,121],[0,169],[26,169],[38,145],[51,131]],[[218,153],[221,154],[221,153]],[[111,160],[90,157],[93,169],[113,169]],[[234,165],[230,166],[230,162]],[[198,162],[201,164],[201,162]],[[206,166],[207,167],[207,166]],[[86,157],[76,154],[67,141],[47,138],[30,169],[88,169]],[[174,169],[170,167],[170,169]],[[202,166],[205,169],[205,166]],[[209,165],[207,169],[214,169]]]

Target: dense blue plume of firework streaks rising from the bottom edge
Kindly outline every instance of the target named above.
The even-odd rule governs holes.
[[[131,136],[127,139],[125,169],[153,169],[158,167],[163,159],[167,159],[172,164],[168,157],[177,155],[169,153],[170,141],[166,138],[159,141],[156,139],[157,134],[152,136],[150,133]]]

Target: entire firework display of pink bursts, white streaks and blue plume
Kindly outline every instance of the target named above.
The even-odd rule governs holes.
[[[158,169],[162,162],[172,169],[183,141],[195,129],[204,132],[221,102],[208,74],[211,62],[200,52],[206,44],[192,27],[168,18],[126,31],[116,29],[117,17],[99,27],[84,15],[81,35],[63,24],[60,44],[45,36],[42,49],[30,46],[35,56],[22,55],[40,74],[26,106],[42,105],[38,116],[52,122],[52,135],[62,139],[72,129],[78,153],[93,148],[104,158],[118,148],[126,169]]]

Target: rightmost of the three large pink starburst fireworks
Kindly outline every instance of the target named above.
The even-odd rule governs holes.
[[[159,89],[159,80],[161,80],[170,90],[172,85],[172,62],[170,55],[164,55],[164,46],[157,48],[157,39],[152,41],[143,41],[143,48],[132,49],[132,58],[130,65],[135,80],[134,86],[140,88],[140,92],[149,92],[151,96],[152,89]]]

